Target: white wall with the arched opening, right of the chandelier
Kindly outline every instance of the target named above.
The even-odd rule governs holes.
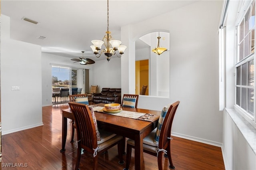
[[[179,100],[173,134],[217,146],[222,143],[222,112],[218,110],[218,22],[221,8],[222,1],[199,1],[131,25],[130,35],[122,34],[122,42],[127,36],[130,42],[134,42],[150,31],[170,32],[170,98],[140,96],[138,107],[161,110],[164,105]],[[152,24],[152,20],[161,24]],[[132,67],[131,63],[126,71],[122,71],[122,77]],[[122,91],[127,91],[123,81]]]

